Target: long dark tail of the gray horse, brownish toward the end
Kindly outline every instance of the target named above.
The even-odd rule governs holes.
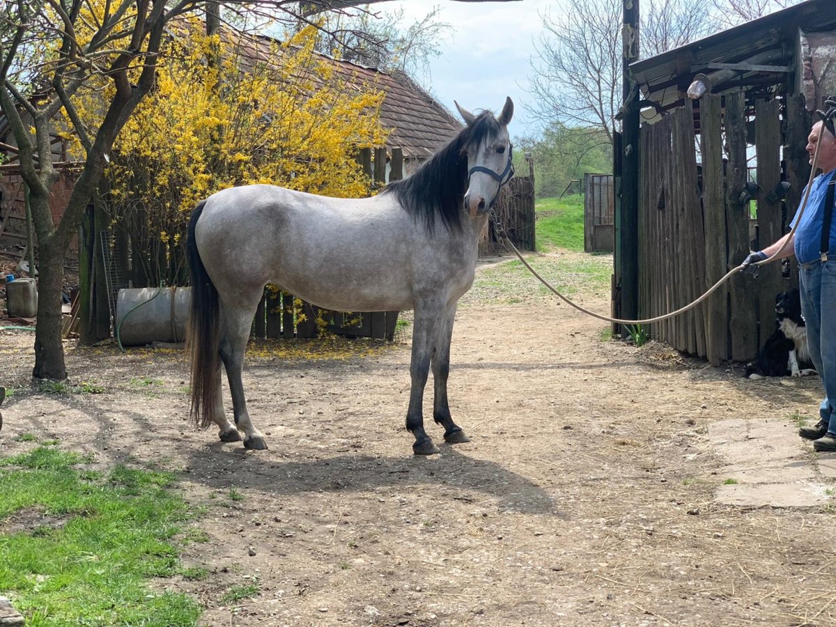
[[[186,342],[191,353],[191,408],[190,415],[196,425],[206,428],[212,423],[212,411],[218,393],[218,370],[221,359],[218,352],[220,340],[220,308],[217,289],[206,273],[195,242],[195,227],[206,201],[201,201],[191,212],[186,252],[191,268],[191,307]]]

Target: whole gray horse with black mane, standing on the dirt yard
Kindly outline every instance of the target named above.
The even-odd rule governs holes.
[[[273,283],[337,311],[414,309],[410,404],[413,451],[439,451],[424,431],[432,368],[433,419],[446,442],[466,442],[450,415],[447,375],[456,302],[473,283],[479,236],[499,188],[513,175],[507,99],[498,119],[458,104],[464,130],[409,178],[364,199],[327,198],[269,185],[231,187],[191,214],[191,413],[222,441],[265,449],[247,412],[244,351],[264,286]],[[281,242],[281,243],[278,243]],[[232,392],[224,415],[221,364]]]

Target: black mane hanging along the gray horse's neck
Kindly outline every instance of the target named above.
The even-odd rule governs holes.
[[[477,115],[449,144],[432,155],[403,181],[395,181],[381,193],[394,193],[415,220],[424,222],[433,232],[436,215],[450,231],[461,229],[461,213],[467,191],[467,155],[469,145],[478,145],[486,137],[499,135],[501,127],[490,111]]]

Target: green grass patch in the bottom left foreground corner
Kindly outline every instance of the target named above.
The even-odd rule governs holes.
[[[76,467],[90,461],[54,447],[0,458],[0,594],[28,627],[196,624],[194,599],[148,586],[205,576],[173,543],[194,515],[174,476]]]

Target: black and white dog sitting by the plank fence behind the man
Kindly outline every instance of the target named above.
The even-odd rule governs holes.
[[[779,293],[775,297],[775,333],[757,354],[754,363],[746,367],[749,379],[801,377],[815,374],[807,345],[807,326],[801,317],[801,297],[798,289]]]

